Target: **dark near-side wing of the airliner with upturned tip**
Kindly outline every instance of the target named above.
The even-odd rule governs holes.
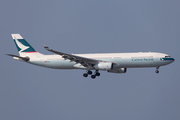
[[[91,58],[85,58],[85,57],[81,57],[81,56],[76,56],[76,55],[67,54],[67,53],[63,53],[63,52],[58,52],[58,51],[55,51],[53,49],[50,49],[46,45],[44,45],[44,48],[46,50],[50,51],[50,52],[61,55],[65,60],[68,59],[71,62],[73,61],[73,62],[76,62],[76,63],[80,63],[84,67],[93,68],[93,66],[95,64],[98,64],[99,62],[102,62],[101,60],[95,60],[95,59],[91,59]]]

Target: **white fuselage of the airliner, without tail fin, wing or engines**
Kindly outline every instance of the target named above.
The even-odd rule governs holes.
[[[85,58],[116,63],[114,68],[159,67],[174,61],[167,54],[156,52],[74,54]],[[28,54],[31,64],[54,69],[87,69],[79,63],[65,60],[60,55]]]

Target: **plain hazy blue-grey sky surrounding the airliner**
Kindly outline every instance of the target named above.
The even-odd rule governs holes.
[[[179,0],[1,0],[1,120],[179,120]],[[38,52],[162,52],[175,62],[155,68],[101,72],[42,68],[18,55],[20,33]]]

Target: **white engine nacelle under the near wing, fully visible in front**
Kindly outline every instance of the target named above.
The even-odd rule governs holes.
[[[111,63],[111,62],[100,62],[100,63],[94,65],[94,68],[97,70],[112,70],[113,69],[113,63]]]

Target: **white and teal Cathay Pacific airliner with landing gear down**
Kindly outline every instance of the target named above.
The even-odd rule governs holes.
[[[44,55],[37,52],[20,34],[11,34],[18,49],[19,56],[12,56],[33,65],[53,69],[82,69],[86,70],[84,77],[91,75],[92,79],[100,76],[100,70],[109,73],[126,73],[127,68],[159,67],[175,61],[174,58],[158,52],[138,53],[101,53],[101,54],[67,54],[55,51],[44,45],[44,48],[55,55]],[[94,73],[92,72],[94,70]]]

